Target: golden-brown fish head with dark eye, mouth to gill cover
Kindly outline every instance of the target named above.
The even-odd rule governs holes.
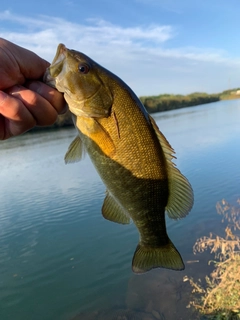
[[[64,93],[76,116],[108,117],[113,97],[102,80],[103,68],[85,54],[59,44],[44,81]]]

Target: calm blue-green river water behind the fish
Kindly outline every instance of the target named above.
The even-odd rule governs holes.
[[[193,255],[192,247],[209,232],[223,233],[216,202],[239,197],[240,101],[154,118],[195,193],[188,217],[167,220],[186,269],[134,275],[134,225],[102,218],[105,187],[88,157],[64,164],[75,130],[25,134],[0,143],[1,320],[107,320],[121,312],[129,319],[131,312],[139,319],[140,312],[148,319],[191,318],[182,278],[210,270],[209,254]]]

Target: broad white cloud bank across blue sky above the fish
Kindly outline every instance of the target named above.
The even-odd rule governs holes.
[[[76,24],[57,17],[0,13],[0,36],[51,61],[57,45],[79,50],[123,78],[138,95],[217,92],[240,83],[240,61],[213,48],[167,48],[170,25],[122,27],[104,20]]]

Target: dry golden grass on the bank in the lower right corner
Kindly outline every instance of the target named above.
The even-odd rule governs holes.
[[[210,234],[197,240],[194,253],[210,249],[214,254],[214,270],[200,280],[184,277],[192,286],[190,306],[210,319],[240,319],[240,200],[231,206],[225,200],[216,205],[222,222],[227,222],[225,237]]]

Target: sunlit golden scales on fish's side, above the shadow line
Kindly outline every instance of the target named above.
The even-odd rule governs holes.
[[[109,118],[98,120],[109,132],[116,146],[112,159],[136,177],[164,179],[167,177],[165,167],[159,166],[160,161],[165,161],[164,154],[161,148],[156,148],[159,143],[155,132],[149,126],[150,121],[140,109],[136,109],[132,99],[125,96],[122,92],[114,95],[113,114],[117,117],[118,130],[113,116],[110,121]],[[115,110],[115,105],[121,105],[121,109]]]

